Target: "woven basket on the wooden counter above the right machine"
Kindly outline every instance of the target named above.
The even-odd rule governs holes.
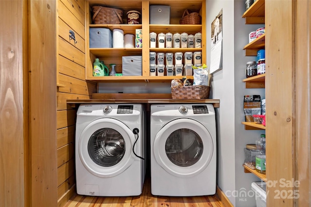
[[[172,88],[173,99],[202,99],[209,97],[210,87],[207,85],[191,85]]]

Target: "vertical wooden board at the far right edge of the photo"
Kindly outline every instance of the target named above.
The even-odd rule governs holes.
[[[297,206],[311,206],[311,0],[298,0],[295,19],[295,111],[296,163],[295,180],[300,182]],[[307,47],[306,47],[307,46]],[[309,46],[309,47],[308,47]]]

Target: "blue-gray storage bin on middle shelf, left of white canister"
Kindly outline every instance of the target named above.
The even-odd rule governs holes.
[[[111,30],[107,28],[90,28],[89,48],[112,48]]]

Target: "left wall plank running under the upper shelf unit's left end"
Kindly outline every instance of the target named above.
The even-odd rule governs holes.
[[[96,85],[94,85],[94,83],[75,79],[62,74],[59,75],[59,82],[65,86],[59,88],[59,92],[63,93],[90,95],[97,91]]]

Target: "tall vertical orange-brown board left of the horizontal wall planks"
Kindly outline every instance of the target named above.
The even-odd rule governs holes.
[[[28,3],[31,204],[52,207],[57,205],[56,3],[55,0]]]

